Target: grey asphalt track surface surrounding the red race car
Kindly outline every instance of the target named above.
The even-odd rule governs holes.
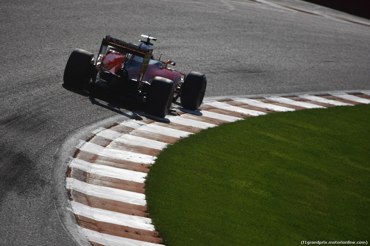
[[[207,97],[370,89],[368,25],[266,3],[14,0],[1,2],[0,23],[0,245],[78,245],[60,162],[79,136],[129,114],[62,86],[74,48],[152,35],[156,56],[206,74]]]

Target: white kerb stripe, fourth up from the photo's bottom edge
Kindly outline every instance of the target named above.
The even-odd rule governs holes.
[[[91,174],[99,174],[111,178],[118,178],[120,180],[128,180],[139,183],[144,183],[145,178],[147,177],[145,172],[136,172],[117,167],[94,164],[78,158],[73,159],[69,166],[78,168]]]

